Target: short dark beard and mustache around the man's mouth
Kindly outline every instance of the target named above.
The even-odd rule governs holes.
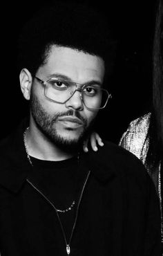
[[[54,143],[59,149],[64,150],[64,152],[76,152],[82,147],[84,139],[88,136],[92,129],[93,122],[87,125],[85,118],[81,116],[79,111],[70,109],[65,112],[57,112],[55,116],[51,116],[46,112],[46,110],[41,106],[37,97],[31,92],[30,99],[30,111],[32,113],[32,118],[35,120],[35,123],[38,129]],[[68,139],[59,135],[55,127],[57,118],[61,116],[76,116],[83,122],[83,130],[77,139]]]

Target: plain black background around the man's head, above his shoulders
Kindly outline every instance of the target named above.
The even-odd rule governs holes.
[[[51,3],[52,1],[46,1]],[[82,1],[79,1],[82,2]],[[97,131],[118,143],[128,123],[150,111],[152,92],[152,44],[155,0],[84,1],[101,10],[112,21],[117,37],[117,59],[108,87],[113,98],[100,111]],[[17,36],[33,12],[44,6],[40,1],[4,3],[1,12],[1,133],[12,131],[28,113],[28,102],[19,89],[16,68]]]

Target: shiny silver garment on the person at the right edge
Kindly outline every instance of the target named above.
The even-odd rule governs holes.
[[[148,152],[148,127],[150,123],[150,117],[151,113],[147,113],[144,116],[141,116],[140,118],[137,118],[133,120],[129,126],[128,129],[124,132],[122,135],[122,138],[119,141],[119,145],[130,151],[131,153],[135,154],[137,158],[140,158],[142,163],[145,163],[146,160],[146,154]],[[157,190],[157,194],[160,199],[160,208],[162,213],[162,196],[161,196],[161,179],[160,179],[160,170],[161,170],[161,164],[157,167],[155,170],[155,173],[151,173],[151,170],[146,166],[146,170],[148,171],[148,174],[153,179],[153,182],[155,183],[155,188]],[[163,221],[162,221],[163,222]],[[162,230],[163,230],[163,224],[162,224]],[[162,242],[163,242],[163,232],[162,232]]]

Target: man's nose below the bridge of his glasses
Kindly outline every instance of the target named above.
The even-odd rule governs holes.
[[[65,104],[68,109],[83,110],[84,105],[81,98],[81,92],[76,90]]]

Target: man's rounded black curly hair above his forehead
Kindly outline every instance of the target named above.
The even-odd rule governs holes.
[[[73,2],[55,1],[23,27],[18,40],[18,68],[35,75],[46,63],[50,46],[66,46],[102,57],[108,70],[115,59],[115,39],[108,20],[97,10]]]

